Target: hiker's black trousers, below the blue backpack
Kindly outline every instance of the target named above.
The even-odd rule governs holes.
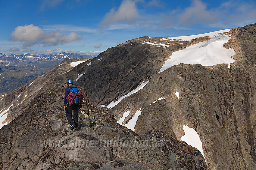
[[[73,120],[72,120],[72,111],[74,111],[73,113]],[[67,104],[66,107],[66,117],[67,117],[67,121],[68,123],[72,126],[73,124],[76,125],[76,127],[78,127],[78,104],[74,104],[73,106],[69,106]]]

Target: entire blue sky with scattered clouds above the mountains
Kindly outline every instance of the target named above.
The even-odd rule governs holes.
[[[203,34],[256,23],[255,1],[0,1],[0,53],[98,55],[134,38]]]

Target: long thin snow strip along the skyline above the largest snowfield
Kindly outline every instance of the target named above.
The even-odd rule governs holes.
[[[220,31],[214,31],[214,32],[209,32],[209,33],[205,33],[205,34],[198,34],[198,35],[189,35],[189,36],[180,36],[180,37],[164,37],[161,38],[160,40],[181,40],[181,41],[190,41],[193,40],[195,38],[200,38],[200,37],[205,37],[205,36],[209,36],[210,38],[216,36],[217,34],[223,33],[223,32],[229,32],[230,29],[224,29],[224,30],[220,30]]]

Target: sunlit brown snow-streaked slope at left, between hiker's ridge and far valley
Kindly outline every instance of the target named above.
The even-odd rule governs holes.
[[[0,96],[1,116],[3,112],[5,112],[8,108],[10,108],[10,111],[5,113],[5,114],[8,114],[8,117],[5,121],[6,122],[13,121],[15,118],[17,118],[21,114],[21,112],[23,112],[23,110],[28,108],[31,100],[34,97],[36,97],[37,94],[39,94],[42,91],[45,91],[44,87],[51,86],[51,84],[55,81],[55,79],[58,79],[58,76],[61,76],[69,72],[73,68],[73,66],[70,64],[76,63],[77,61],[84,62],[90,59],[92,58],[90,57],[80,58],[80,59],[65,58],[61,64],[58,64],[57,66],[53,67],[44,75],[30,80],[30,82],[24,85],[21,85],[19,88],[11,92],[3,93],[2,96]],[[63,81],[61,85],[65,85],[65,83],[66,82]],[[3,122],[3,124],[5,123],[5,121]]]

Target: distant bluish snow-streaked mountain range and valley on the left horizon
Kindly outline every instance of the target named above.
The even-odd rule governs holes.
[[[11,91],[30,79],[41,76],[55,65],[61,63],[64,58],[84,58],[91,55],[74,53],[60,54],[22,54],[5,55],[0,53],[0,93]]]

